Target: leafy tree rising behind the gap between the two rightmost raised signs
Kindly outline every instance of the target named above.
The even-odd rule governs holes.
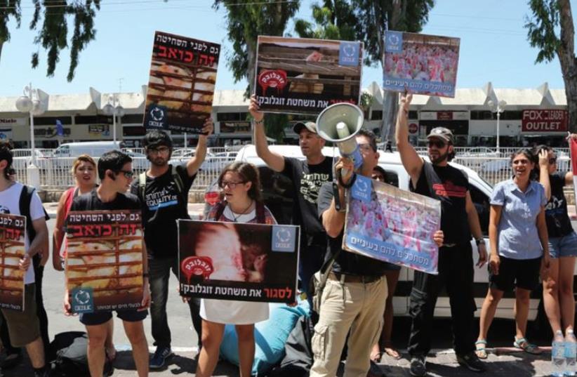
[[[383,59],[385,30],[420,32],[428,20],[433,0],[324,0],[312,6],[314,25],[298,20],[300,37],[314,37],[364,42],[364,63],[377,65]],[[397,93],[385,91],[381,135],[389,138],[394,131]]]

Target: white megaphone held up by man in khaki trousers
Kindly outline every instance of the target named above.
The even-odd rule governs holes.
[[[350,103],[336,103],[326,107],[317,118],[319,136],[335,143],[341,156],[352,159],[354,170],[363,164],[363,157],[354,137],[361,130],[363,122],[363,111]]]

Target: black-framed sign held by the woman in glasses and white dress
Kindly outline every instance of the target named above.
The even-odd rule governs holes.
[[[178,220],[180,294],[293,303],[300,227]]]

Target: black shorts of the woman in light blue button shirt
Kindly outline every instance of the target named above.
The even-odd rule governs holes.
[[[539,284],[541,258],[512,259],[499,256],[499,275],[493,275],[489,267],[489,287],[499,291],[511,291],[514,286],[533,291]]]

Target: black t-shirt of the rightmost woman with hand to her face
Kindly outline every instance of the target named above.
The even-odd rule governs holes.
[[[564,237],[573,232],[571,220],[567,213],[567,199],[563,192],[565,174],[555,173],[549,176],[551,198],[545,206],[545,220],[549,237]]]

